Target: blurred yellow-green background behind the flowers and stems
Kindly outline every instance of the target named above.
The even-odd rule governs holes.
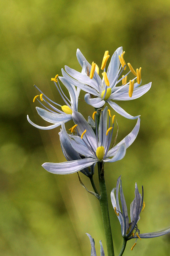
[[[86,232],[106,243],[99,203],[78,181],[77,174],[54,175],[43,162],[63,162],[58,132],[31,126],[30,119],[47,123],[37,114],[33,97],[36,84],[49,98],[63,104],[51,77],[68,65],[81,70],[76,59],[80,48],[99,66],[123,46],[125,61],[142,67],[143,84],[152,88],[142,98],[118,102],[128,113],[141,114],[141,129],[125,158],[105,166],[108,196],[122,175],[123,191],[130,208],[135,182],[144,186],[146,208],[141,214],[141,233],[169,225],[169,52],[170,2],[126,0],[1,0],[0,2],[0,255],[90,256]],[[84,92],[80,95],[84,98]],[[80,101],[79,111],[94,109]],[[113,110],[111,112],[114,114]],[[119,135],[135,126],[118,114]],[[68,128],[72,122],[68,124]],[[91,190],[88,178],[80,174]],[[97,175],[94,175],[97,183]],[[98,183],[97,183],[98,186]],[[115,255],[121,245],[121,229],[109,199]],[[170,236],[127,243],[126,256],[169,255]],[[106,253],[107,254],[107,253]]]

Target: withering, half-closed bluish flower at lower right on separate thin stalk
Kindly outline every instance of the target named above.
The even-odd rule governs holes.
[[[120,189],[119,189],[119,184],[120,184]],[[115,196],[115,191],[116,191],[116,196]],[[119,191],[120,191],[122,211],[119,205],[119,197],[118,197]],[[111,202],[113,205],[113,209],[115,210],[115,214],[117,215],[117,218],[119,219],[119,222],[121,224],[121,234],[123,238],[125,238],[126,240],[130,240],[132,238],[136,238],[136,240],[138,238],[140,240],[141,238],[154,238],[158,236],[163,236],[170,232],[170,228],[166,228],[158,232],[140,234],[140,231],[137,226],[137,222],[140,219],[140,213],[141,213],[142,207],[143,207],[143,210],[145,208],[145,202],[143,202],[143,186],[142,186],[142,196],[141,196],[141,194],[139,194],[137,183],[135,183],[135,199],[131,202],[131,205],[130,205],[130,217],[131,217],[130,223],[129,223],[129,217],[127,214],[125,197],[124,197],[123,189],[121,185],[121,176],[117,179],[116,188],[113,188],[113,190],[111,191]],[[135,245],[136,245],[136,241],[134,246]],[[133,250],[133,247],[131,248],[131,250]]]

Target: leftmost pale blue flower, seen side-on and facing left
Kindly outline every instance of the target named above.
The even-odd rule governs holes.
[[[63,82],[64,86],[67,88],[69,95],[70,95],[70,100],[67,98],[67,96],[64,94],[60,84],[59,84],[59,80],[58,80],[58,75],[55,76],[55,78],[51,78],[52,81],[54,81],[55,86],[59,92],[59,94],[61,95],[61,97],[63,98],[63,101],[65,102],[66,105],[61,106],[60,104],[57,104],[56,102],[53,102],[53,100],[50,100],[45,94],[43,94],[41,92],[41,90],[39,90],[39,88],[37,88],[37,86],[35,86],[35,88],[37,88],[37,90],[39,90],[39,92],[41,93],[40,95],[37,95],[34,97],[33,102],[35,102],[35,99],[38,100],[38,96],[40,96],[40,100],[39,103],[41,103],[41,105],[43,105],[44,108],[46,108],[47,110],[43,109],[43,108],[39,108],[36,107],[36,110],[39,114],[39,116],[41,116],[45,121],[52,123],[52,125],[50,126],[39,126],[37,124],[34,124],[30,119],[29,116],[27,115],[27,120],[30,124],[32,124],[33,126],[35,126],[36,128],[39,128],[41,130],[50,130],[53,128],[56,128],[58,126],[60,126],[63,122],[68,122],[69,120],[72,119],[72,112],[73,111],[77,111],[78,109],[78,96],[80,94],[80,89],[79,88],[75,88],[75,86],[71,83],[68,82],[68,80],[64,77],[59,77],[59,79],[61,80],[61,82]],[[59,86],[57,86],[57,83],[59,84]],[[45,102],[49,107],[45,106],[43,103]],[[52,104],[51,104],[51,103]],[[61,110],[59,110],[58,108],[56,108],[53,105],[57,105],[59,107],[61,107]]]

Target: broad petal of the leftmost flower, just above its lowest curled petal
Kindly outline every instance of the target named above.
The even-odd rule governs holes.
[[[71,114],[52,113],[39,107],[36,107],[36,110],[39,116],[41,116],[41,118],[43,118],[45,121],[50,122],[52,124],[56,124],[58,122],[65,122],[66,120],[68,121],[72,119]]]

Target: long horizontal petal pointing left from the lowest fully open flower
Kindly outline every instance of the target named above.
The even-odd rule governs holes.
[[[63,163],[44,163],[42,166],[48,172],[54,174],[71,174],[78,172],[97,162],[96,159],[84,158]]]

